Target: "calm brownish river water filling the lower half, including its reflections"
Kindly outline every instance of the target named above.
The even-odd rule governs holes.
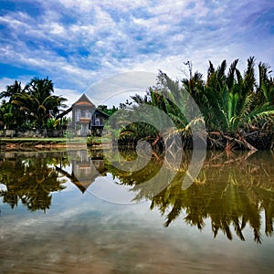
[[[100,151],[2,153],[0,272],[269,273],[273,160],[208,153],[189,188],[183,166],[152,196],[161,157],[131,172]]]

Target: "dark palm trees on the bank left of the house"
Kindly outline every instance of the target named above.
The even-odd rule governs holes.
[[[6,129],[48,128],[60,111],[66,107],[63,97],[53,95],[49,79],[31,79],[23,88],[21,82],[7,86],[0,94],[0,121]]]

